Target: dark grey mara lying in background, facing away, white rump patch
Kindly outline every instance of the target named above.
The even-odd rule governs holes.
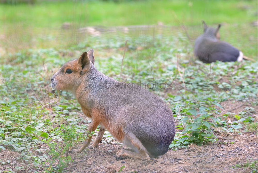
[[[211,63],[215,61],[242,61],[249,58],[243,56],[243,53],[237,48],[233,47],[227,42],[220,41],[218,27],[211,28],[203,21],[204,33],[195,40],[194,54],[199,60],[204,63]]]

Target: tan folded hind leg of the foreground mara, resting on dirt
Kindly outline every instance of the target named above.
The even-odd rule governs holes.
[[[125,138],[128,139],[132,147],[136,148],[139,153],[127,151],[127,150],[120,150],[116,153],[116,160],[125,159],[125,158],[133,158],[133,159],[149,159],[150,156],[147,153],[146,148],[142,145],[141,141],[136,138],[136,136],[132,132],[125,132]]]

